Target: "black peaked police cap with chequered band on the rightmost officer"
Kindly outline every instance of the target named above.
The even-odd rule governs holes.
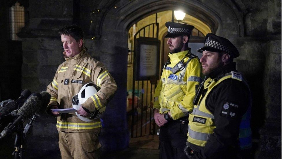
[[[198,52],[226,52],[232,58],[236,58],[240,55],[237,48],[228,39],[216,36],[215,34],[208,33],[204,43],[204,47],[198,49]]]

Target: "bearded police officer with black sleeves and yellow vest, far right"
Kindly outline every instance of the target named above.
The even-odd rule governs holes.
[[[209,33],[198,49],[206,80],[199,87],[189,116],[185,153],[188,158],[236,158],[242,116],[251,105],[244,77],[233,59],[237,48],[227,39]]]

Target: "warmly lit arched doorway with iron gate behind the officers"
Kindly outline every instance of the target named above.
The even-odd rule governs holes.
[[[136,71],[134,68],[134,53],[136,53],[136,47],[134,47],[134,37],[136,34],[142,33],[143,37],[157,37],[160,43],[159,59],[159,76],[156,77],[158,83],[162,73],[164,63],[167,61],[168,45],[167,39],[164,38],[167,32],[165,23],[167,21],[173,21],[173,11],[166,10],[157,12],[145,17],[138,22],[131,25],[128,31],[128,59],[127,59],[127,123],[130,133],[130,147],[142,147],[142,148],[158,148],[158,136],[156,135],[159,127],[153,120],[152,100],[154,100],[154,92],[156,84],[152,81],[134,81],[133,76]],[[211,29],[202,21],[190,16],[185,15],[182,23],[188,23],[194,25],[189,41],[189,47],[192,49],[192,53],[201,57],[196,50],[203,46],[204,37],[207,33],[211,32]],[[150,29],[140,31],[142,28],[150,25]],[[157,28],[158,27],[158,28]],[[149,31],[151,30],[151,32]],[[154,30],[154,31],[153,31]],[[151,34],[151,35],[150,35]],[[140,35],[137,35],[140,36]]]

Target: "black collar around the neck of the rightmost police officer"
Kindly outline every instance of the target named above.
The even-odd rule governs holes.
[[[231,71],[237,72],[235,62],[229,63],[223,67],[217,68],[216,70],[213,70],[212,72],[210,72],[207,76],[212,79],[220,78]]]

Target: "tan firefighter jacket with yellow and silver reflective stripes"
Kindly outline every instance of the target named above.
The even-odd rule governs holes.
[[[47,86],[51,94],[50,103],[46,110],[55,105],[59,108],[72,108],[72,98],[81,87],[88,82],[95,83],[100,90],[86,100],[83,107],[90,112],[101,109],[117,89],[114,78],[106,67],[87,54],[86,47],[74,57],[66,58],[55,74],[53,81]],[[95,132],[101,130],[100,119],[92,123],[80,120],[75,114],[63,113],[57,117],[57,130],[66,132]],[[99,129],[97,129],[99,128]]]

